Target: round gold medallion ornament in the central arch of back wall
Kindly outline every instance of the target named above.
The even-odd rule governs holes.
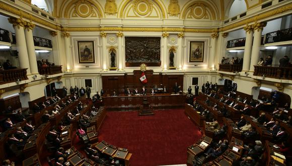
[[[153,4],[149,0],[136,0],[133,2],[133,11],[140,16],[152,13]]]

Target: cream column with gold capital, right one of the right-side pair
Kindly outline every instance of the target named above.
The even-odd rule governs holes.
[[[254,37],[253,37],[251,61],[250,61],[250,67],[249,67],[250,72],[254,72],[254,65],[257,65],[257,62],[260,58],[259,55],[260,55],[260,48],[261,48],[262,31],[266,25],[267,25],[266,22],[254,24]]]

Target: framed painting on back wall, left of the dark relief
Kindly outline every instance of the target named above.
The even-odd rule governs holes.
[[[95,63],[94,41],[78,41],[79,63]]]

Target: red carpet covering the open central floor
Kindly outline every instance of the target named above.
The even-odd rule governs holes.
[[[187,147],[201,138],[198,127],[183,109],[155,111],[138,116],[136,111],[108,112],[99,140],[133,153],[131,165],[183,164]]]

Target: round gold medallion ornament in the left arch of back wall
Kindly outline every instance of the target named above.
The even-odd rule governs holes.
[[[89,17],[94,14],[92,4],[87,0],[80,0],[75,4],[74,15],[80,17]]]

